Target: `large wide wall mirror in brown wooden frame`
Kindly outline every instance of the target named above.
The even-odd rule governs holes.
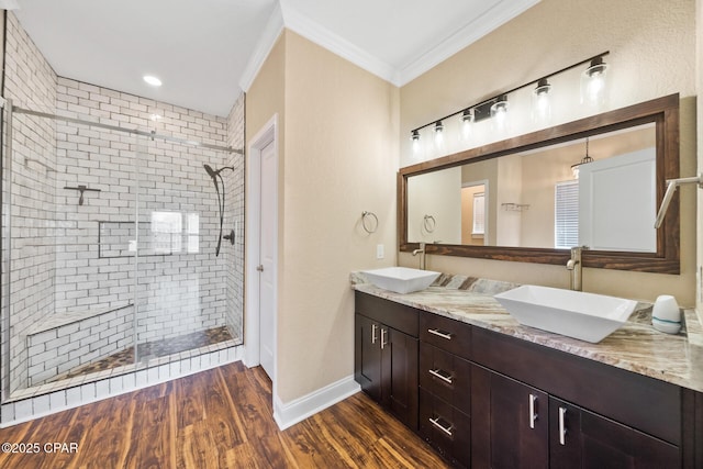
[[[401,252],[679,273],[679,94],[402,168]],[[678,196],[677,196],[678,197]]]

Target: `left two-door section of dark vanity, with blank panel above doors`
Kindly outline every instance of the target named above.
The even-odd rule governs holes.
[[[356,381],[416,431],[419,310],[359,292],[355,309]]]

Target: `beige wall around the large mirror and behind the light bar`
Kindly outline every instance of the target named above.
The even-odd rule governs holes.
[[[695,1],[543,0],[401,88],[401,160],[410,131],[462,107],[610,51],[610,109],[681,93],[681,175],[695,174]],[[470,83],[470,87],[467,86]],[[680,276],[585,269],[587,291],[695,302],[695,193],[681,193]],[[401,265],[412,260],[399,255]],[[433,270],[568,287],[559,266],[428,256]]]

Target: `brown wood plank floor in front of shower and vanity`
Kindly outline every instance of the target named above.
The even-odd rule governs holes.
[[[241,362],[0,429],[5,442],[78,450],[2,453],[2,469],[447,467],[364,393],[279,431],[270,380]]]

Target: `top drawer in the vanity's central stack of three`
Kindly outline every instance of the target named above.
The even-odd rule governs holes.
[[[461,358],[471,358],[469,324],[423,312],[420,315],[420,339]]]

